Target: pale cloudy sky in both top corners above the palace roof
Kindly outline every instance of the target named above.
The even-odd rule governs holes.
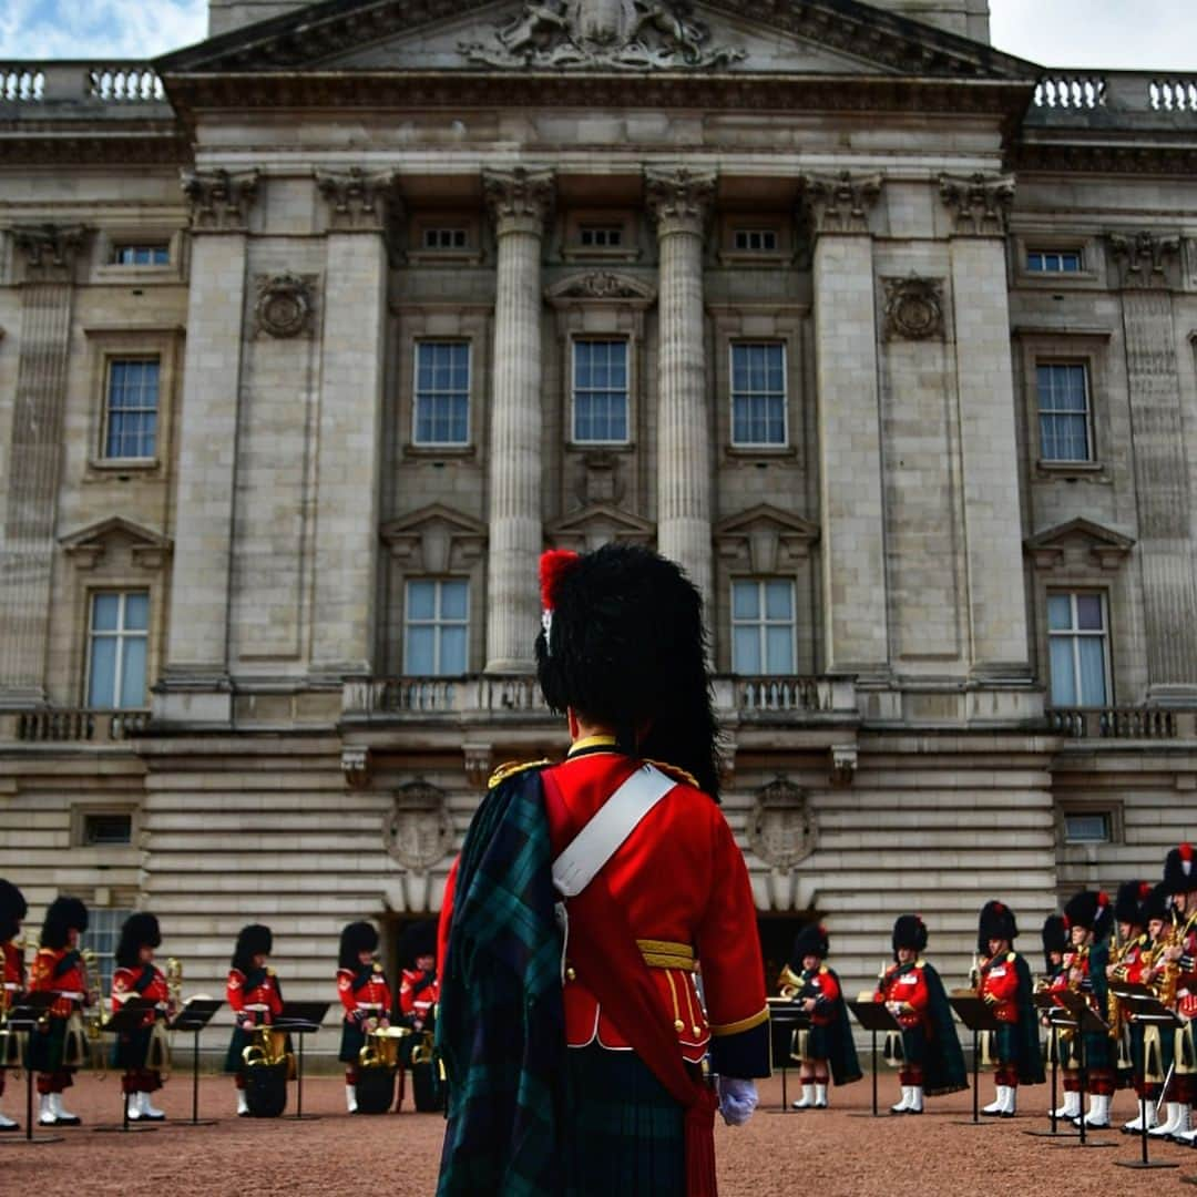
[[[0,0],[0,59],[150,59],[201,41],[207,8],[207,0]],[[1195,0],[990,0],[990,11],[994,44],[1045,66],[1197,71]]]

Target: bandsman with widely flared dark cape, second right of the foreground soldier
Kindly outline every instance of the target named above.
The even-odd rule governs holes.
[[[885,1002],[901,1026],[901,1100],[889,1107],[895,1114],[920,1114],[924,1096],[942,1096],[968,1088],[943,982],[922,958],[926,924],[917,915],[903,915],[893,930],[894,962],[873,995]]]

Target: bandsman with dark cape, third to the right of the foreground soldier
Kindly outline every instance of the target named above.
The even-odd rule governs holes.
[[[1014,950],[1019,924],[1014,911],[999,901],[989,901],[980,912],[980,938],[985,960],[980,966],[978,995],[1002,1025],[994,1037],[994,1101],[984,1112],[1013,1118],[1017,1112],[1019,1083],[1041,1084],[1038,1019],[1033,1001],[1031,968]]]

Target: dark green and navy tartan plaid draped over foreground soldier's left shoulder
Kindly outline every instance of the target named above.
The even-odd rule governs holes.
[[[457,867],[437,1044],[449,1077],[438,1197],[561,1191],[561,932],[539,770],[479,807]]]

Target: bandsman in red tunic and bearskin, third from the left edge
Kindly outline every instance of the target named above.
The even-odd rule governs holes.
[[[121,928],[113,972],[113,1013],[130,997],[144,997],[154,1008],[146,1010],[141,1026],[122,1032],[114,1045],[114,1062],[123,1069],[121,1092],[130,1122],[162,1122],[166,1116],[150,1100],[162,1088],[162,1073],[169,1064],[163,1023],[170,1016],[170,988],[166,974],[153,962],[162,944],[158,919],[153,915],[130,915]]]

